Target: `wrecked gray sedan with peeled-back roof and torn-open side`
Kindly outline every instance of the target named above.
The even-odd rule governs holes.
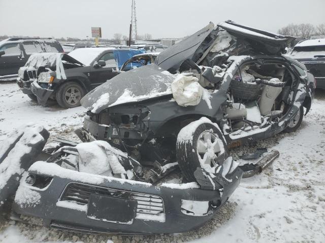
[[[178,161],[184,177],[199,182],[202,173],[219,170],[228,147],[299,128],[314,78],[282,56],[293,39],[232,21],[210,23],[154,64],[89,92],[77,134],[105,140],[140,163]]]

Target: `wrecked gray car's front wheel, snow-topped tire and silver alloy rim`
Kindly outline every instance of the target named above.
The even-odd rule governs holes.
[[[180,138],[182,129],[176,145],[178,165],[188,181],[195,180],[194,172],[198,167],[208,173],[216,173],[217,167],[228,157],[226,141],[217,127],[202,123],[190,131],[191,127],[189,124],[183,129],[192,134],[192,141]]]

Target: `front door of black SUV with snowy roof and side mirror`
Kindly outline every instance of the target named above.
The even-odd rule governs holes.
[[[116,71],[116,60],[113,51],[106,52],[99,56],[99,58],[96,58],[94,64],[98,61],[105,61],[106,65],[103,67],[92,65],[90,67],[89,79],[92,88],[105,83],[108,79],[111,79],[119,73]]]

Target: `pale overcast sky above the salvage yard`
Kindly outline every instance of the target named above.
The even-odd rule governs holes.
[[[128,35],[131,0],[0,0],[0,35]],[[183,37],[231,19],[276,32],[289,23],[325,23],[325,0],[136,0],[138,34]]]

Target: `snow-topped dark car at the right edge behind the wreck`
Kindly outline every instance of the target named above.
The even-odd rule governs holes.
[[[290,56],[305,64],[314,75],[316,88],[325,89],[325,38],[298,43]]]

